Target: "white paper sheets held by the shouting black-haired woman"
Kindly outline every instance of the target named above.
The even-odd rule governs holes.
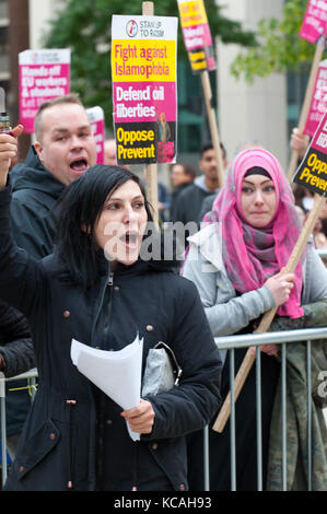
[[[119,351],[97,350],[75,339],[71,340],[70,357],[78,370],[109,396],[124,410],[140,402],[143,339],[137,335],[133,342]],[[140,434],[132,432],[133,441]]]

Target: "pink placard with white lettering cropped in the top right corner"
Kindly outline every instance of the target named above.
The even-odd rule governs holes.
[[[311,43],[327,33],[327,2],[326,0],[308,0],[300,37]]]

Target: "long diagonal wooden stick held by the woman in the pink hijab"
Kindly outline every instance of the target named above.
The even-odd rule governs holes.
[[[283,269],[283,272],[284,273],[293,273],[295,271],[295,268],[297,266],[297,262],[299,260],[301,259],[301,256],[304,252],[304,248],[307,244],[307,240],[310,237],[310,234],[313,232],[313,229],[324,209],[324,206],[325,206],[325,201],[326,201],[326,197],[324,196],[320,196],[320,195],[315,195],[315,203],[314,203],[314,207],[313,209],[311,210],[307,219],[306,219],[306,222],[303,226],[303,230],[297,238],[297,242],[293,248],[293,252],[289,258],[289,261],[285,266],[285,268]],[[262,319],[257,328],[257,330],[255,330],[255,334],[264,334],[266,332],[270,325],[271,325],[271,322],[276,315],[276,312],[277,312],[278,307],[275,307],[270,311],[268,311],[264,316],[262,316]],[[242,390],[242,387],[243,387],[243,384],[244,382],[246,381],[246,377],[248,375],[248,373],[250,372],[250,369],[254,364],[256,360],[256,355],[255,353],[253,352],[253,349],[249,348],[245,354],[245,358],[243,359],[243,362],[238,369],[238,372],[236,374],[236,377],[235,377],[235,381],[234,381],[234,388],[235,388],[235,393],[234,393],[234,397],[235,397],[235,401]],[[215,432],[222,432],[227,420],[229,420],[229,417],[230,417],[230,413],[231,413],[231,393],[227,394],[225,400],[224,400],[224,404],[217,417],[217,420],[213,424],[213,430]]]

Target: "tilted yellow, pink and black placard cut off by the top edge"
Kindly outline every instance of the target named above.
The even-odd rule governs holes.
[[[212,38],[203,0],[177,0],[183,38],[194,73],[215,70]]]

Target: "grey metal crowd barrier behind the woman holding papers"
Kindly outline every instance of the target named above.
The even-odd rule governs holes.
[[[242,336],[227,336],[214,338],[215,343],[221,350],[230,350],[230,389],[232,397],[231,406],[231,491],[236,491],[236,455],[235,455],[235,405],[234,405],[234,350],[237,348],[247,347],[260,347],[262,344],[281,344],[281,394],[282,394],[282,481],[283,491],[287,491],[287,344],[290,342],[306,341],[306,371],[307,371],[307,448],[308,448],[308,490],[312,490],[312,397],[311,397],[311,342],[316,339],[327,339],[327,327],[315,328],[315,329],[301,329],[301,330],[285,330],[267,334],[248,334]],[[256,406],[257,406],[257,470],[258,470],[258,491],[262,490],[262,454],[261,454],[261,436],[260,436],[260,411],[261,411],[261,398],[260,398],[260,351],[257,352],[256,359]],[[327,371],[327,370],[326,370]],[[2,375],[2,378],[1,378]],[[5,436],[5,382],[10,382],[17,378],[31,378],[35,383],[37,377],[37,371],[31,370],[27,373],[12,377],[3,378],[3,374],[0,373],[0,400],[1,400],[1,446],[2,446],[2,484],[7,479],[7,436]],[[33,397],[32,397],[33,399]],[[210,491],[209,480],[209,429],[208,427],[203,431],[203,474],[205,474],[205,491]]]

